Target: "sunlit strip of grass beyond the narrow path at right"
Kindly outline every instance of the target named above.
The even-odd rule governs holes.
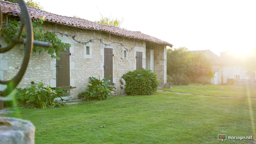
[[[173,85],[173,88],[160,88],[165,91],[194,95],[256,98],[256,88],[234,85]],[[249,92],[249,93],[248,93]],[[250,95],[248,95],[250,94]]]

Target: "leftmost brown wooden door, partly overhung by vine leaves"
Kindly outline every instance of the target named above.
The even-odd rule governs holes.
[[[59,55],[59,60],[56,60],[56,87],[70,91],[70,70],[69,70],[69,48],[67,51]],[[69,93],[63,93],[63,96],[69,96]]]

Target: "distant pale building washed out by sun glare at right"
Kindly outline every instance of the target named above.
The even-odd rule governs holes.
[[[227,51],[221,52],[220,56],[218,56],[209,49],[191,52],[204,53],[213,60],[212,71],[214,72],[214,77],[208,77],[207,79],[212,85],[246,85],[246,82],[248,82],[250,86],[256,86],[256,76],[251,77],[246,74],[246,57],[230,55]],[[228,79],[233,79],[233,82],[228,82]]]

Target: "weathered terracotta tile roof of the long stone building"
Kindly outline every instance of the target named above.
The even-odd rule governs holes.
[[[0,2],[1,2],[1,9],[3,14],[18,16],[18,17],[21,16],[19,4],[6,2],[2,0],[0,0]],[[45,21],[47,22],[53,22],[60,25],[72,26],[80,29],[91,29],[91,30],[103,31],[103,32],[107,32],[113,35],[118,35],[126,38],[134,38],[134,39],[140,39],[144,41],[150,41],[156,44],[164,44],[170,47],[173,46],[172,44],[166,41],[162,41],[158,38],[143,34],[138,31],[129,31],[116,26],[100,24],[100,23],[92,22],[86,19],[81,19],[81,18],[61,16],[54,13],[49,13],[44,10],[40,10],[35,7],[31,7],[31,6],[27,6],[27,9],[32,19],[38,19],[38,18],[41,18],[42,16],[45,16]]]

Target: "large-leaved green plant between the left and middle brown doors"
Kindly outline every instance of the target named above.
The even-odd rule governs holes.
[[[87,100],[104,100],[108,99],[109,95],[114,91],[112,88],[115,88],[113,85],[108,85],[110,76],[100,80],[95,77],[90,77],[91,82],[87,83],[87,88],[85,91],[81,92],[78,95],[78,98],[87,99]],[[116,88],[115,88],[116,89]],[[116,91],[114,91],[116,92]]]

